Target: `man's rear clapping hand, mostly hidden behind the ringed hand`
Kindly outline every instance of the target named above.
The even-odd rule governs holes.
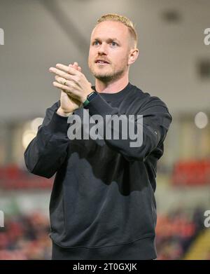
[[[69,64],[69,67],[73,67],[74,69],[81,71],[81,68],[78,66],[77,62]],[[70,97],[67,93],[65,93],[64,90],[62,90],[60,95],[60,107],[59,109],[57,109],[57,114],[59,114],[60,116],[69,116],[73,114],[73,111],[78,109],[81,105],[82,103],[80,101],[76,100],[73,97]]]

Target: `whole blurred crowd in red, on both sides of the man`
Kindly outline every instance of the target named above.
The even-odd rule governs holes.
[[[203,228],[202,212],[160,215],[156,227],[159,260],[182,259]],[[9,217],[0,231],[0,260],[51,259],[48,217],[40,212]]]

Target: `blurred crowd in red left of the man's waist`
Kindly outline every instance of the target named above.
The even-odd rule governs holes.
[[[0,260],[50,259],[48,217],[39,212],[18,215],[6,219],[0,229]]]

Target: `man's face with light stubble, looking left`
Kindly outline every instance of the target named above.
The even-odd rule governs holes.
[[[129,53],[130,34],[123,23],[104,21],[93,29],[88,65],[95,78],[109,82],[123,76],[128,69]]]

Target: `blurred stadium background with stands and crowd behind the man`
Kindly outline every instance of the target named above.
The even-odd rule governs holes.
[[[50,259],[53,177],[26,170],[23,153],[45,109],[59,100],[48,68],[87,67],[90,34],[104,13],[129,17],[139,34],[130,82],[167,103],[173,121],[158,164],[158,259],[210,259],[209,0],[0,0],[0,259]]]

